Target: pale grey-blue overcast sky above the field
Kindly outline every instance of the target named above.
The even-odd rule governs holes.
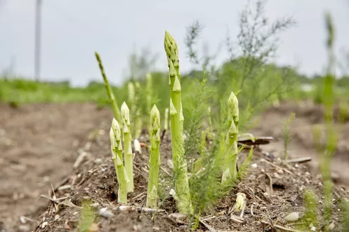
[[[34,16],[37,0],[0,0],[0,72],[34,78]],[[149,48],[166,70],[164,31],[176,39],[183,72],[193,68],[186,57],[185,29],[195,20],[204,25],[201,43],[213,53],[229,35],[239,32],[239,13],[248,0],[41,0],[41,79],[70,80],[73,86],[101,81],[94,52],[102,57],[110,82],[120,85],[128,74],[129,55]],[[253,0],[252,0],[253,1]],[[349,50],[348,0],[269,0],[268,20],[292,16],[297,25],[280,34],[275,62],[296,65],[301,73],[322,73],[327,63],[324,13],[332,14],[336,55]],[[201,47],[199,47],[201,48]],[[227,58],[219,53],[217,62]]]

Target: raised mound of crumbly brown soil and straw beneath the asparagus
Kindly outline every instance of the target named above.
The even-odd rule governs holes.
[[[107,128],[102,130],[106,133]],[[148,143],[147,139],[141,140]],[[160,211],[156,214],[147,212],[145,208],[148,170],[146,149],[143,149],[142,154],[135,156],[135,192],[129,194],[128,208],[121,210],[123,208],[116,199],[117,180],[108,149],[109,143],[109,137],[104,135],[91,146],[89,155],[66,183],[69,188],[55,192],[55,198],[62,200],[52,201],[48,205],[35,231],[65,231],[79,228],[81,204],[84,200],[89,200],[88,208],[96,214],[93,217],[96,231],[185,231],[190,221],[176,218],[178,214],[172,198],[164,200],[159,206]],[[170,154],[170,141],[164,139],[162,167],[166,172],[162,173],[163,175],[171,174],[164,158]],[[241,153],[240,161],[244,158],[246,158],[245,152]],[[304,211],[304,189],[311,188],[317,193],[322,192],[322,185],[319,184],[322,180],[311,175],[305,165],[282,167],[275,158],[265,156],[260,151],[254,153],[252,163],[255,168],[251,168],[242,183],[211,207],[209,212],[202,215],[204,224],[199,224],[197,231],[206,231],[209,228],[220,231],[261,231],[261,229],[268,231],[268,228],[271,228],[270,220],[279,226],[286,226],[287,221],[283,218],[287,214]],[[238,192],[247,196],[241,222],[237,221],[240,213],[230,214]],[[336,189],[336,193],[342,196],[345,190]],[[337,211],[339,207],[336,202],[332,207],[336,210],[333,220],[337,224],[340,219]],[[232,218],[232,215],[235,217]]]

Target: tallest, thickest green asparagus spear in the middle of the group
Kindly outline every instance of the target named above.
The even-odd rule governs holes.
[[[178,46],[169,32],[165,32],[164,47],[169,66],[170,85],[170,117],[171,117],[171,139],[172,158],[175,170],[175,191],[178,196],[176,205],[180,213],[192,213],[190,189],[187,179],[187,161],[184,155],[183,137],[183,110],[180,89],[180,71],[178,60]]]

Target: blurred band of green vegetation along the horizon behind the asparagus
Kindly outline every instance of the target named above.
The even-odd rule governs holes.
[[[243,74],[239,68],[243,58],[225,62],[209,76],[206,85],[213,92],[209,100],[212,109],[220,107],[220,100],[225,100],[231,91],[237,94],[239,105],[246,109],[247,105],[255,109],[263,109],[273,102],[283,100],[314,100],[315,103],[324,102],[324,78],[325,76],[304,76],[291,67],[278,67],[276,64],[263,64],[256,76],[246,80],[244,86],[239,88]],[[97,67],[96,67],[97,68]],[[152,72],[153,104],[157,104],[160,111],[168,107],[169,84],[168,74],[165,72]],[[193,70],[182,76],[183,98],[188,99],[192,95],[192,89],[197,80],[202,81],[203,71]],[[122,86],[112,86],[114,95],[119,105],[128,100],[126,80]],[[140,86],[146,86],[146,80],[138,79]],[[336,79],[334,83],[336,101],[349,102],[349,76]],[[147,92],[141,88],[140,107],[143,115],[147,114],[145,103]],[[143,102],[144,101],[144,102]],[[15,104],[39,103],[39,102],[93,102],[99,106],[108,106],[109,100],[105,93],[103,80],[88,83],[86,87],[72,87],[69,81],[62,82],[38,82],[29,79],[11,78],[0,76],[0,102]],[[144,104],[143,104],[144,103]],[[185,104],[185,101],[183,101]],[[215,107],[216,106],[216,107]]]

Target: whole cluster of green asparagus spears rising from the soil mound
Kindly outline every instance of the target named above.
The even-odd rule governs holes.
[[[164,48],[169,67],[169,87],[171,100],[169,109],[165,111],[164,127],[167,129],[170,118],[171,130],[171,146],[173,168],[176,175],[175,189],[173,196],[176,200],[176,206],[181,213],[192,213],[192,201],[190,198],[190,186],[187,175],[187,162],[185,160],[184,151],[184,134],[183,134],[183,107],[181,100],[180,86],[180,67],[178,59],[178,46],[169,32],[165,32]],[[121,106],[121,111],[117,107],[112,90],[107,82],[103,65],[100,61],[98,53],[97,60],[102,71],[103,79],[107,93],[112,101],[113,111],[116,118],[112,120],[110,128],[110,142],[112,151],[112,160],[114,161],[115,170],[117,173],[117,181],[119,182],[118,201],[119,203],[127,203],[127,193],[133,192],[133,152],[131,147],[131,121],[129,107],[124,102]],[[147,79],[150,79],[147,76]],[[131,95],[133,94],[133,86],[129,86]],[[237,132],[239,122],[239,109],[237,97],[231,93],[228,100],[228,128],[225,136],[225,156],[222,158],[222,184],[237,175]],[[149,107],[148,107],[149,108]],[[135,118],[138,118],[135,116]],[[119,124],[121,122],[121,125]],[[158,178],[160,167],[160,114],[156,105],[152,107],[150,112],[150,170],[147,186],[147,207],[156,208],[158,199]],[[136,130],[138,131],[138,130]],[[139,132],[137,132],[139,135]],[[124,143],[124,149],[121,142],[121,137]],[[122,153],[124,151],[124,158]]]

